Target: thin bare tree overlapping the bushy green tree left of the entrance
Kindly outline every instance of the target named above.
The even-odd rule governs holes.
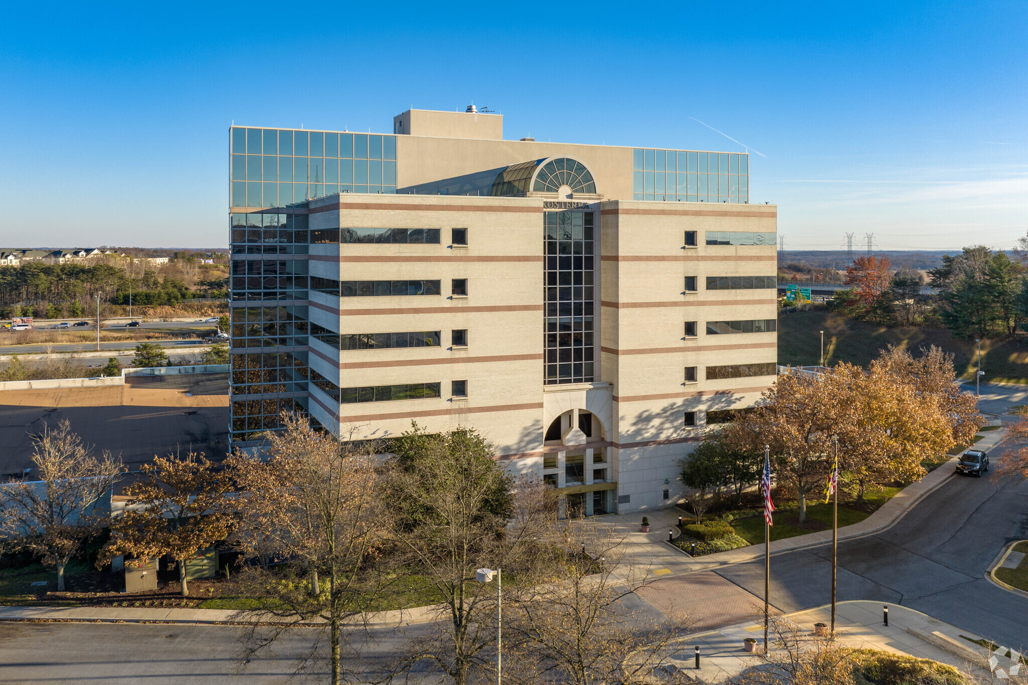
[[[531,537],[542,512],[515,504],[512,479],[472,429],[427,434],[415,425],[392,449],[397,457],[388,464],[384,497],[395,507],[386,522],[394,563],[424,577],[443,605],[439,621],[410,641],[396,669],[429,663],[465,685],[488,668],[495,639],[495,589],[476,580],[476,569],[510,573],[535,559]],[[547,497],[541,484],[523,485],[523,502]]]

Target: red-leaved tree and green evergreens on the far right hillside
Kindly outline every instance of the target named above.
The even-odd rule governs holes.
[[[947,328],[957,338],[1014,337],[1028,325],[1028,239],[1012,255],[984,245],[944,255],[929,270],[891,272],[888,257],[859,257],[846,269],[849,290],[830,306],[885,326]]]

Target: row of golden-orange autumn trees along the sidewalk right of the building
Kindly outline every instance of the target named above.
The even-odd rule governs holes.
[[[683,463],[697,520],[724,489],[740,496],[770,449],[776,484],[806,520],[839,455],[840,481],[862,501],[869,486],[909,483],[922,462],[969,445],[984,424],[975,396],[954,383],[953,357],[938,347],[915,357],[889,347],[867,370],[842,363],[821,374],[781,375],[758,407],[741,413]]]

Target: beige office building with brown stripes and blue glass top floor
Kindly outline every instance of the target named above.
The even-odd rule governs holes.
[[[473,426],[595,516],[680,500],[678,460],[774,380],[777,208],[745,154],[425,110],[229,146],[236,446],[284,409]]]

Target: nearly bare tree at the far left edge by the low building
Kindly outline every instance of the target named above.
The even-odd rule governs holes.
[[[57,566],[63,592],[68,562],[110,519],[105,497],[121,462],[108,452],[94,457],[67,420],[56,430],[44,426],[34,443],[39,480],[0,486],[0,539],[3,546],[28,549]]]

